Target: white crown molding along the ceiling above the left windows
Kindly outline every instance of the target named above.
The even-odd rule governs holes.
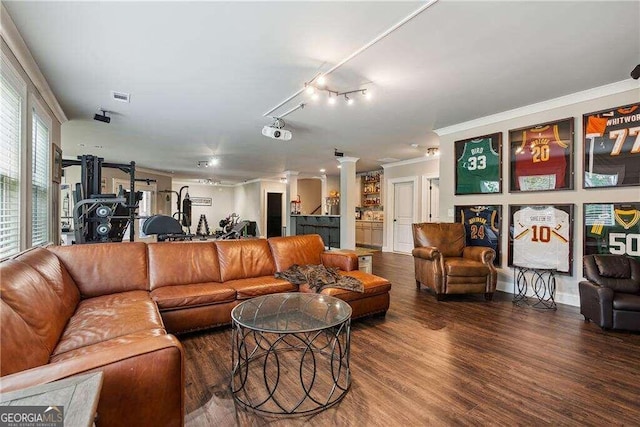
[[[2,39],[7,43],[7,46],[9,46],[9,49],[18,60],[24,72],[27,73],[27,76],[36,87],[44,102],[46,102],[56,116],[56,119],[58,119],[60,124],[67,122],[66,114],[58,103],[35,59],[33,59],[29,47],[20,35],[16,24],[13,22],[13,19],[11,19],[11,15],[7,12],[4,4],[0,4],[0,8],[0,36],[2,36]]]

